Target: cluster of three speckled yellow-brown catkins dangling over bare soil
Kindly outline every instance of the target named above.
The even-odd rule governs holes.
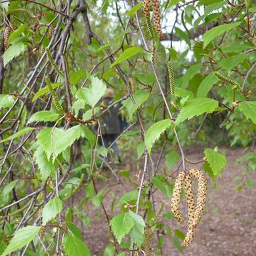
[[[198,179],[198,198],[196,206],[192,189],[191,175]],[[183,183],[186,195],[186,204],[188,206],[188,231],[186,232],[186,237],[182,242],[181,247],[186,248],[192,242],[196,233],[196,226],[200,222],[200,219],[203,215],[207,182],[202,171],[197,169],[190,169],[187,175],[184,171],[179,173],[173,188],[173,197],[171,198],[171,211],[173,212],[175,218],[180,222],[184,221],[184,218],[179,211],[179,203],[181,201],[181,188]]]

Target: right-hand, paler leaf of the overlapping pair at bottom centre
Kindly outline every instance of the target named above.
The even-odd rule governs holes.
[[[129,211],[128,214],[131,216],[131,218],[135,223],[129,232],[129,236],[131,237],[131,242],[134,242],[140,247],[145,240],[144,219],[140,215],[137,215],[136,213],[134,213],[133,211]]]

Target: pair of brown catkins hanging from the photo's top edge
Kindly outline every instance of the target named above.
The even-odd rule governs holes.
[[[156,33],[158,37],[163,37],[163,32],[161,31],[161,9],[159,0],[151,0],[152,1],[152,9],[154,14],[154,27],[156,29]],[[150,31],[150,35],[152,36],[152,31],[150,30],[150,0],[143,0],[143,12],[144,16],[147,20],[148,30]]]

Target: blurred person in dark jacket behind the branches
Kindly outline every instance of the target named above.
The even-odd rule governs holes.
[[[114,100],[114,91],[112,89],[106,89],[106,96],[104,96],[103,101],[108,106]],[[118,135],[127,127],[127,122],[125,117],[122,118],[121,115],[118,115],[119,108],[121,104],[117,104],[116,106],[110,108],[105,114],[102,116],[102,121],[100,122],[100,129],[102,133],[102,139],[104,142],[105,148],[108,148],[114,140],[118,137]],[[114,151],[114,160],[119,160],[119,153],[116,142],[112,145],[112,149]]]

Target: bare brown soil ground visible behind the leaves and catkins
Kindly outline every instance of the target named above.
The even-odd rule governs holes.
[[[255,256],[256,255],[256,184],[249,189],[244,186],[240,192],[236,190],[236,185],[247,179],[256,180],[256,171],[249,171],[246,175],[242,174],[242,165],[234,165],[237,158],[245,154],[242,148],[233,148],[226,150],[226,160],[228,165],[223,171],[223,176],[217,179],[217,189],[212,186],[213,182],[207,177],[207,203],[205,206],[206,212],[203,215],[202,222],[198,224],[196,236],[186,249],[184,256]],[[191,150],[188,154],[190,161],[198,161],[202,159],[203,148]],[[164,158],[163,158],[164,159]],[[126,166],[131,166],[129,158],[122,159],[122,163],[118,165],[119,169],[125,169]],[[128,165],[127,165],[128,163]],[[164,161],[160,165],[160,173],[163,169]],[[117,167],[117,166],[116,166]],[[188,165],[188,167],[192,167]],[[193,165],[193,168],[202,169],[202,163]],[[131,177],[135,170],[131,169]],[[111,172],[107,173],[111,176]],[[241,176],[242,180],[232,182],[234,177]],[[122,179],[125,181],[125,179]],[[98,190],[106,186],[104,181],[98,181],[96,184]],[[194,184],[196,186],[196,184]],[[124,183],[124,186],[114,186],[112,192],[119,198],[131,190],[131,185]],[[162,213],[170,211],[170,202],[160,191],[154,194],[156,209],[159,209],[162,202],[165,202]],[[108,201],[109,200],[109,201]],[[110,203],[113,200],[110,192],[104,200],[106,212],[109,216],[111,213]],[[90,209],[92,209],[90,205]],[[94,208],[93,208],[94,209]],[[89,246],[91,255],[103,255],[104,248],[109,244],[109,228],[104,214],[100,215],[98,221],[96,215],[102,211],[96,209],[88,211],[88,217],[91,218],[91,224],[83,230],[83,240]],[[118,207],[114,210],[114,215],[120,213]],[[186,203],[184,199],[181,203],[181,213],[186,213]],[[186,214],[184,214],[186,219]],[[175,219],[164,219],[165,223],[171,227],[171,230],[179,228],[186,234],[187,223],[179,223]],[[78,223],[79,226],[81,226]],[[178,256],[181,255],[169,240],[169,236],[165,236],[165,243],[162,247],[163,255]],[[152,238],[152,247],[157,247],[156,238]],[[129,255],[127,253],[127,255]],[[154,253],[152,253],[154,255]]]

